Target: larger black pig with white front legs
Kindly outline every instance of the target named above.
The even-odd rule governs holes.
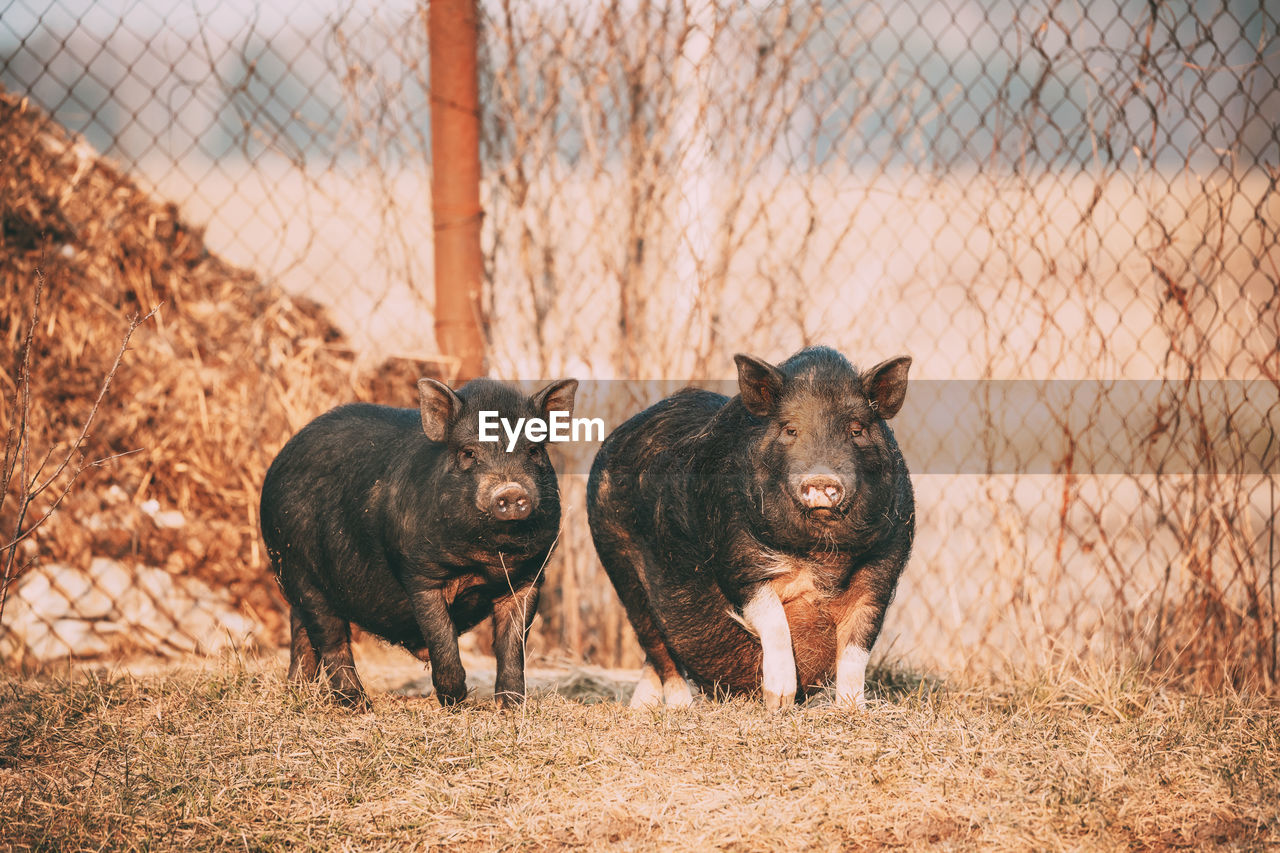
[[[864,678],[915,505],[887,419],[911,360],[736,356],[739,396],[685,389],[618,426],[588,482],[591,537],[645,651],[634,706],[708,692],[780,708]]]

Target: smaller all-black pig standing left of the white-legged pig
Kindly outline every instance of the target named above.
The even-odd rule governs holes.
[[[262,538],[292,605],[291,680],[324,665],[335,698],[369,707],[351,624],[431,663],[442,704],[466,697],[458,634],[493,616],[503,704],[525,695],[525,639],[559,532],[541,443],[479,441],[479,412],[573,411],[577,382],[532,397],[489,379],[417,383],[419,409],[340,406],[291,438],[262,483]]]

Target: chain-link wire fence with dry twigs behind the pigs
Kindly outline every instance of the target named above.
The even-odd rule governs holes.
[[[330,305],[361,353],[434,350],[422,8],[28,1],[0,15],[8,90]],[[900,415],[983,464],[909,456],[919,537],[883,648],[1275,683],[1276,10],[480,10],[497,375],[727,378],[735,352],[828,343],[980,380],[973,421],[928,383]],[[648,387],[580,406],[617,424]],[[582,470],[540,631],[632,663]]]

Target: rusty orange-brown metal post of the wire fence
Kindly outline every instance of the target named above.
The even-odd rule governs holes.
[[[485,373],[475,0],[429,0],[435,339],[465,380]]]

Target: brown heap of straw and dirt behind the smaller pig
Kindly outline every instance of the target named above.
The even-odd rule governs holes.
[[[81,138],[0,91],[0,429],[20,418],[19,350],[44,279],[31,357],[32,467],[64,456],[88,415],[129,318],[134,333],[82,448],[87,467],[23,543],[19,565],[88,567],[95,557],[159,566],[227,590],[283,635],[257,533],[266,465],[293,430],[349,400],[388,400],[316,304],[265,286],[204,245],[173,204],[138,188]],[[410,384],[411,389],[412,386]],[[401,397],[404,391],[398,392]],[[79,456],[77,456],[79,459]],[[18,478],[15,478],[17,480]],[[19,483],[0,512],[14,530]],[[58,489],[28,514],[40,517]]]

